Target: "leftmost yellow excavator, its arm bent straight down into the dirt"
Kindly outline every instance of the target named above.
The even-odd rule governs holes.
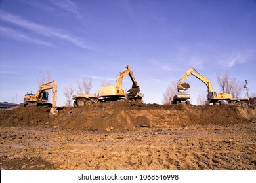
[[[52,103],[48,103],[49,93],[45,90],[52,89]],[[51,112],[56,111],[56,101],[57,101],[57,83],[56,81],[47,82],[42,84],[37,93],[24,95],[24,103],[20,103],[20,106],[26,107],[27,105],[36,105],[36,106],[47,106],[52,107]]]

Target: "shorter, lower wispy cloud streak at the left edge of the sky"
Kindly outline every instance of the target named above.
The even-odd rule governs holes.
[[[0,26],[0,32],[1,32],[1,35],[6,35],[18,41],[32,42],[34,44],[41,44],[43,46],[51,46],[51,47],[53,46],[53,44],[49,42],[42,41],[26,33],[22,33],[21,31],[10,29],[9,27]]]

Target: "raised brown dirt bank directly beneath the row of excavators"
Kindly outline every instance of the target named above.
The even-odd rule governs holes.
[[[127,131],[141,127],[237,124],[255,120],[255,110],[234,105],[133,105],[117,101],[86,107],[63,107],[54,118],[49,116],[49,111],[50,108],[33,106],[1,110],[1,125]]]

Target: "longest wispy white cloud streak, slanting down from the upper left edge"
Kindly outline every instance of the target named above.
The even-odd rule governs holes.
[[[21,18],[20,16],[15,16],[2,10],[0,10],[0,19],[6,22],[10,22],[14,25],[23,27],[24,29],[28,29],[33,33],[39,34],[41,36],[62,39],[64,41],[71,42],[72,44],[75,44],[76,46],[79,46],[81,48],[91,49],[89,46],[85,46],[85,44],[78,37],[70,35],[61,29],[55,29],[52,27],[47,27],[34,22],[30,22]]]

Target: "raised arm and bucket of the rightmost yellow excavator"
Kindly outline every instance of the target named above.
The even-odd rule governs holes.
[[[187,90],[188,88],[190,88],[190,85],[188,83],[182,83],[182,82],[184,82],[184,80],[186,80],[186,78],[189,75],[193,75],[196,78],[198,78],[199,80],[201,80],[207,86],[208,92],[214,92],[211,82],[207,78],[205,78],[205,76],[203,76],[201,73],[196,71],[196,69],[194,69],[193,67],[188,69],[186,71],[186,73],[184,73],[184,75],[181,77],[179,82],[177,82],[178,92],[183,92],[184,90]]]

